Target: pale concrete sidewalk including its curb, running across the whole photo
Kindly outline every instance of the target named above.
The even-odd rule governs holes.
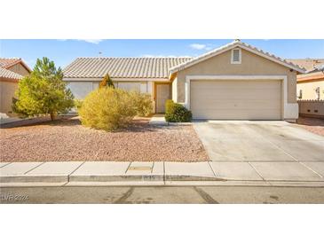
[[[324,162],[0,163],[0,186],[30,185],[324,186]]]

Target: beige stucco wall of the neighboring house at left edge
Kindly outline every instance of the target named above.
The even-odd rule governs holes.
[[[12,98],[18,88],[18,82],[0,81],[0,113],[12,115]]]

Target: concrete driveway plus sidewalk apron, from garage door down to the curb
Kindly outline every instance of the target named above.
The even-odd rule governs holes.
[[[265,181],[323,181],[324,137],[288,122],[194,122],[215,174]]]

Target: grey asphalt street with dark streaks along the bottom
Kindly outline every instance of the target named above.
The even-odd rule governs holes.
[[[3,187],[0,203],[324,203],[324,187]]]

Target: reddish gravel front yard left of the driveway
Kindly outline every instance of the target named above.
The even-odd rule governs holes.
[[[0,161],[209,161],[192,125],[154,127],[137,119],[116,132],[77,118],[0,129]]]

